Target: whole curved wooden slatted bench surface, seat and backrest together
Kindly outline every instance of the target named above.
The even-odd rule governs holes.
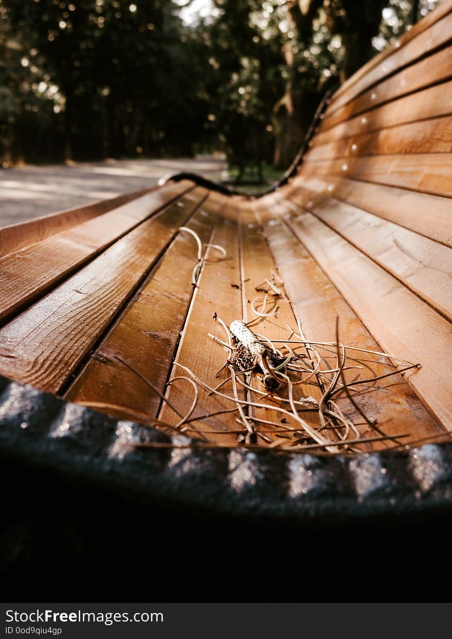
[[[278,315],[253,330],[284,343],[299,321],[307,341],[335,343],[338,317],[343,344],[393,356],[352,356],[379,378],[359,403],[387,437],[361,450],[400,445],[401,433],[403,443],[444,438],[452,430],[451,34],[446,2],[345,82],[298,171],[271,194],[225,196],[169,180],[3,229],[0,374],[119,418],[177,426],[193,403],[193,384],[172,382],[189,376],[180,366],[215,386],[228,351],[209,338],[225,339],[213,315],[227,325],[255,318],[251,302],[275,273],[283,284],[273,286],[285,291]],[[227,255],[207,249],[196,287],[197,243],[181,226]],[[322,357],[333,365],[335,349]],[[421,367],[381,378],[399,360]],[[317,381],[302,382],[301,396],[320,401]],[[183,432],[236,445],[242,426],[230,401],[197,392]],[[337,404],[350,412],[343,394]],[[269,408],[253,417],[275,420]],[[359,432],[369,438],[368,424]],[[258,443],[279,441],[269,428]]]

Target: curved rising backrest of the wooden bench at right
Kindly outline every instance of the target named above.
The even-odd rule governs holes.
[[[298,173],[264,197],[451,429],[452,3],[332,96]],[[300,213],[300,212],[303,213]]]

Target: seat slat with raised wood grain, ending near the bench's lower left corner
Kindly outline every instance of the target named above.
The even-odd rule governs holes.
[[[205,192],[205,191],[204,191]],[[0,373],[60,392],[200,203],[142,222],[0,330]]]

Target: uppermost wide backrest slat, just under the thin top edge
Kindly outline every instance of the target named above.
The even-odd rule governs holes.
[[[449,12],[452,7],[449,5]],[[404,47],[393,50],[390,56],[387,56],[382,63],[369,70],[350,88],[331,104],[331,113],[339,107],[347,104],[360,93],[378,82],[381,82],[386,76],[400,70],[404,66],[414,63],[414,61],[422,58],[430,53],[433,49],[441,47],[451,39],[452,34],[452,15],[448,13],[431,27],[428,27],[418,36],[412,38]]]

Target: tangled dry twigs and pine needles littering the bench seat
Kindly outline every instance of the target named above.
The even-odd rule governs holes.
[[[179,230],[190,233],[197,241],[199,261],[193,270],[193,284],[197,286],[206,261],[202,243],[192,229],[181,227]],[[222,247],[207,247],[217,249],[225,257]],[[230,286],[239,288],[237,284]],[[379,389],[377,382],[384,378],[415,371],[420,365],[388,353],[343,344],[339,318],[336,319],[335,341],[307,339],[299,320],[296,327],[278,325],[287,332],[285,338],[270,339],[258,332],[257,327],[275,323],[278,305],[282,300],[289,300],[282,280],[274,272],[256,287],[256,292],[258,295],[250,302],[253,313],[250,321],[236,319],[228,326],[217,312],[213,313],[213,321],[222,327],[223,335],[209,333],[207,336],[218,348],[225,350],[226,355],[218,371],[210,374],[207,371],[199,376],[176,361],[174,371],[181,371],[181,374],[172,376],[166,394],[162,394],[131,364],[115,358],[160,397],[162,406],[166,404],[176,415],[175,424],[170,424],[169,418],[154,419],[115,404],[91,402],[86,405],[114,410],[168,433],[194,438],[186,445],[177,446],[172,443],[137,444],[142,447],[222,448],[230,447],[231,438],[235,438],[237,445],[250,449],[323,454],[354,454],[372,450],[375,445],[379,448],[404,447],[403,439],[409,433],[386,433],[385,424],[379,424],[374,415],[367,414],[365,392]],[[388,371],[379,375],[364,372],[372,372],[372,364],[377,363],[387,366]],[[209,378],[210,382],[207,381]],[[215,378],[222,379],[215,383]],[[192,402],[184,414],[174,400],[169,400],[169,388],[177,389],[180,383],[188,384],[193,390]],[[204,408],[203,412],[206,397],[211,398],[209,410]],[[210,410],[215,405],[213,397],[218,399],[218,408]],[[229,404],[227,408],[225,402],[226,406]],[[219,426],[215,418],[224,415],[228,420]],[[228,438],[227,443],[221,443],[223,436]]]

